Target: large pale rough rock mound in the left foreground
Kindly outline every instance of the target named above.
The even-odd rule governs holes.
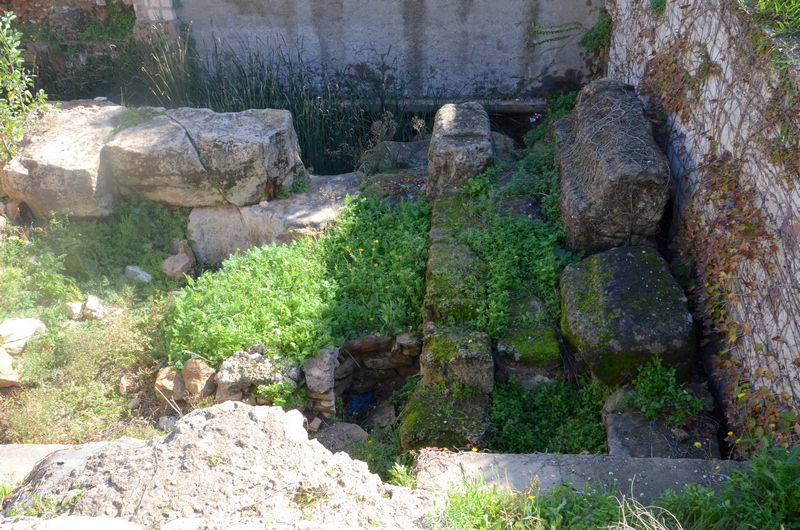
[[[364,462],[308,440],[297,411],[235,402],[195,410],[153,440],[59,451],[33,470],[9,507],[24,513],[38,498],[63,503],[79,492],[72,515],[113,514],[147,528],[188,515],[226,518],[213,526],[220,529],[253,516],[269,520],[259,528],[384,521],[387,530],[421,529],[434,499],[444,497],[387,491]]]

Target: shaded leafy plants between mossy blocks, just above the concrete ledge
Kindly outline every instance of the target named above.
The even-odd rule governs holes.
[[[512,378],[492,393],[490,447],[504,453],[603,453],[600,415],[611,390],[597,383],[577,389],[565,382],[527,389]]]

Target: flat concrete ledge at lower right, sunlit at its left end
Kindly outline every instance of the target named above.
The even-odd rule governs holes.
[[[488,486],[524,491],[538,477],[543,491],[570,483],[576,490],[602,484],[648,504],[662,492],[698,483],[719,490],[730,471],[746,466],[731,460],[622,458],[603,455],[423,452],[416,459],[417,487],[447,491],[477,478]]]

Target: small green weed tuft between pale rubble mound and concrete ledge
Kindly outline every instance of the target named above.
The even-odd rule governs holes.
[[[414,457],[403,452],[394,428],[375,429],[369,438],[351,442],[348,446],[351,456],[366,462],[369,470],[384,482],[409,488],[416,486],[417,480],[411,471]]]

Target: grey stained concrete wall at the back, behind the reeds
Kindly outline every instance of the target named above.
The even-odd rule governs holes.
[[[589,64],[577,45],[604,0],[135,0],[142,22],[191,24],[201,53],[213,38],[265,51],[302,46],[316,73],[346,68],[407,81],[408,97],[537,97],[575,89]],[[570,24],[564,40],[526,48],[531,24]],[[539,36],[538,40],[549,37]],[[537,40],[535,38],[534,40]]]

